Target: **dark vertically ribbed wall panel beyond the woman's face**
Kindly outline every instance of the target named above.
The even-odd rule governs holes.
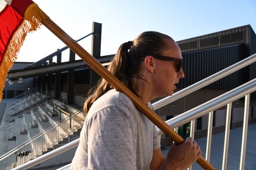
[[[243,57],[246,57],[245,49],[245,44],[236,44],[182,53],[185,78],[181,79],[178,87],[185,88],[239,62],[244,59]],[[241,69],[226,78],[208,85],[206,88],[232,89],[248,81],[248,79],[248,68]]]

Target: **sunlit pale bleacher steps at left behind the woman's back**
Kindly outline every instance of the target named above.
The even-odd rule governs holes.
[[[13,116],[17,112],[13,109],[9,113],[18,119],[2,128],[8,134],[8,141],[13,140],[17,146],[0,157],[0,169],[15,168],[77,139],[86,117],[82,110],[58,100],[46,100],[41,94],[30,95],[17,103],[21,102],[24,107],[19,114]]]

